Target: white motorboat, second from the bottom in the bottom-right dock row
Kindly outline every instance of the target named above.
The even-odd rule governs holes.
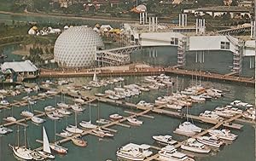
[[[189,138],[188,141],[184,141],[181,145],[183,150],[187,150],[190,152],[198,152],[198,153],[209,153],[211,149],[201,142],[196,141],[195,138]]]

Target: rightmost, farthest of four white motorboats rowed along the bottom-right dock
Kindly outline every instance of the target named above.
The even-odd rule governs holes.
[[[219,139],[224,139],[227,141],[234,141],[237,137],[237,135],[230,132],[230,129],[209,129],[208,133],[209,135],[219,137]]]

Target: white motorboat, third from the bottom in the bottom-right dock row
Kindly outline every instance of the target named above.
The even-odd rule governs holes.
[[[221,147],[224,144],[224,141],[218,140],[214,136],[197,136],[196,140],[210,147]]]

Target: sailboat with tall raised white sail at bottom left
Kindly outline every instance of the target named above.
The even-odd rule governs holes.
[[[38,153],[44,158],[55,158],[55,156],[51,154],[51,151],[49,148],[49,140],[48,140],[46,131],[44,129],[44,126],[43,126],[43,151],[38,151]]]

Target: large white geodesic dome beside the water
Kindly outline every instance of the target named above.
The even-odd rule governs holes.
[[[55,42],[55,62],[63,67],[90,67],[96,60],[96,49],[103,46],[102,38],[90,27],[70,27]]]

